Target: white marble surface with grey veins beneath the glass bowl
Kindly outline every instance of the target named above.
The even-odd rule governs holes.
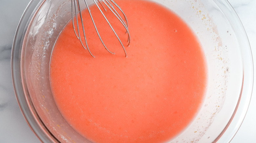
[[[256,0],[228,1],[245,27],[253,57],[256,59]],[[40,142],[20,111],[11,80],[11,46],[16,27],[28,3],[29,0],[3,0],[0,4],[0,143]],[[255,87],[256,83],[244,122],[231,143],[256,143]]]

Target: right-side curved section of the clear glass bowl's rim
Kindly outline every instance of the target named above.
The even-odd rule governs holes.
[[[230,142],[236,135],[238,129],[242,125],[245,115],[247,113],[253,88],[254,79],[254,67],[253,67],[253,57],[251,52],[250,43],[245,32],[245,28],[239,19],[237,13],[231,4],[227,1],[214,0],[214,2],[221,8],[226,19],[229,21],[233,29],[236,29],[236,37],[241,43],[240,47],[243,48],[242,58],[243,58],[243,83],[241,87],[240,96],[235,110],[232,114],[231,119],[225,126],[221,134],[213,142]],[[235,23],[235,24],[234,24]],[[243,45],[243,46],[242,46]],[[246,61],[246,63],[245,63]]]

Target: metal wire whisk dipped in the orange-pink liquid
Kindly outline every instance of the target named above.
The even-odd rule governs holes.
[[[100,35],[99,35],[99,33],[98,33],[98,30],[97,30],[97,28],[96,28],[96,24],[95,24],[95,22],[94,22],[94,20],[93,20],[93,17],[92,17],[91,11],[90,11],[90,9],[89,9],[88,3],[87,3],[86,1],[88,1],[88,0],[84,0],[84,2],[85,2],[85,4],[86,4],[87,10],[88,10],[88,12],[89,12],[89,14],[90,14],[90,17],[91,17],[91,19],[92,19],[92,22],[93,22],[93,24],[94,24],[95,30],[96,30],[96,32],[97,32],[97,35],[98,35],[98,37],[99,37],[101,43],[103,44],[103,46],[105,47],[105,49],[106,49],[109,53],[115,54],[115,53],[109,51],[108,48],[105,46],[104,42],[102,41],[102,39],[101,39],[101,37],[100,37]],[[111,10],[111,12],[116,16],[116,18],[120,21],[120,23],[123,25],[123,27],[124,27],[125,30],[126,30],[126,33],[128,34],[128,45],[127,45],[127,46],[129,46],[129,45],[130,45],[130,41],[131,41],[130,39],[131,39],[131,38],[130,38],[129,31],[128,31],[128,22],[127,22],[127,18],[126,18],[126,16],[125,16],[124,12],[122,11],[122,9],[121,9],[113,0],[101,0],[101,2],[100,2],[99,0],[97,0],[98,3],[97,3],[95,0],[93,0],[93,1],[94,1],[94,4],[96,5],[96,7],[99,9],[100,13],[103,15],[103,17],[104,17],[104,19],[106,20],[106,22],[108,23],[108,25],[110,26],[110,28],[112,29],[112,31],[114,32],[114,34],[116,35],[118,41],[120,42],[120,44],[121,44],[121,46],[122,46],[122,48],[123,48],[123,50],[124,50],[125,57],[127,57],[125,48],[124,48],[124,46],[123,46],[121,40],[119,39],[119,37],[117,36],[117,33],[115,32],[115,30],[113,29],[113,27],[111,26],[111,24],[109,23],[109,21],[107,20],[107,18],[105,17],[105,15],[103,14],[102,10],[99,8],[98,4],[100,4],[101,7],[106,11],[106,8],[105,8],[105,7],[103,6],[103,4],[102,4],[102,2],[103,2],[103,3],[107,6],[107,8],[108,8],[109,10]],[[117,9],[123,14],[124,20],[123,20],[123,19],[121,18],[121,16],[118,14],[118,12],[117,12],[117,10],[116,10],[115,8],[117,8]],[[73,9],[75,9],[75,19],[76,19],[76,28],[77,28],[78,36],[77,36],[77,34],[76,34],[76,31],[75,31]],[[77,9],[78,9],[78,13],[77,13]],[[89,47],[88,47],[88,45],[87,45],[87,40],[86,40],[86,37],[85,37],[84,26],[83,26],[83,19],[82,19],[82,13],[81,13],[81,8],[80,8],[79,0],[71,0],[71,10],[72,10],[72,24],[73,24],[73,28],[74,28],[75,35],[76,35],[77,39],[80,40],[81,45],[83,46],[83,48],[84,48],[84,49],[87,49],[88,52],[91,54],[91,56],[93,56],[93,54],[91,53],[91,51],[90,51],[90,49],[89,49]],[[86,45],[86,47],[84,46],[84,44],[83,44],[83,42],[82,42],[82,40],[81,40],[81,36],[80,36],[80,32],[79,32],[78,20],[77,20],[77,19],[78,19],[78,16],[77,16],[78,14],[79,14],[80,20],[81,20],[81,25],[82,25],[82,30],[83,30],[83,36],[84,36],[84,40],[85,40],[85,45]],[[124,21],[125,21],[125,22],[124,22]],[[93,56],[93,57],[95,57],[95,56]]]

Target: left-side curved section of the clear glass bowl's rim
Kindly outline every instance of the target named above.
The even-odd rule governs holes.
[[[26,96],[28,88],[24,86],[21,69],[21,53],[25,39],[24,33],[26,33],[32,19],[45,1],[46,0],[31,0],[22,14],[11,49],[11,77],[16,100],[32,132],[41,142],[59,142],[36,114],[31,98]]]

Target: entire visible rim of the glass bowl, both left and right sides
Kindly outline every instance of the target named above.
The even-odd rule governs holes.
[[[27,8],[25,9],[21,20],[18,24],[12,50],[11,50],[11,75],[12,75],[12,82],[14,87],[14,92],[16,95],[16,99],[18,101],[19,107],[22,111],[24,118],[27,121],[27,124],[33,131],[33,133],[37,136],[37,138],[41,142],[60,142],[51,132],[47,129],[44,125],[40,117],[36,114],[35,108],[32,104],[32,101],[29,97],[25,94],[28,92],[28,89],[24,87],[23,78],[22,78],[22,69],[21,69],[21,53],[22,53],[22,46],[23,41],[25,39],[24,33],[26,33],[33,17],[38,12],[39,8],[43,5],[46,0],[31,0],[28,4]],[[240,93],[240,97],[233,112],[233,115],[229,122],[227,123],[224,130],[221,134],[213,141],[213,142],[230,142],[232,138],[237,133],[238,129],[240,128],[246,112],[249,107],[251,95],[252,95],[252,88],[253,88],[253,58],[251,53],[251,48],[249,44],[249,40],[247,38],[245,29],[240,21],[238,15],[236,14],[235,10],[232,8],[230,3],[225,0],[213,0],[224,12],[224,15],[228,19],[229,23],[236,22],[236,25],[232,25],[233,28],[236,29],[236,34],[239,39],[246,41],[243,43],[243,50],[242,50],[242,58],[243,61],[243,84]]]

